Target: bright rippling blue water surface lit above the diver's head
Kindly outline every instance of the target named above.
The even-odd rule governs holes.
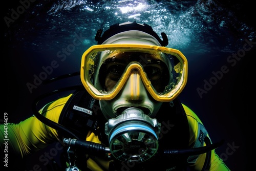
[[[241,39],[255,37],[232,11],[214,1],[56,1],[28,9],[26,21],[19,22],[14,35],[21,46],[45,49],[68,44],[75,33],[81,32],[91,46],[97,29],[108,29],[115,23],[146,23],[160,35],[169,38],[168,47],[193,53],[232,52],[241,47]],[[48,7],[50,6],[50,7]],[[43,7],[47,7],[44,8]],[[230,26],[238,25],[241,37],[233,35]],[[14,36],[13,34],[11,36]],[[26,37],[26,39],[23,39]],[[25,40],[25,41],[24,41]],[[225,40],[225,43],[223,42]],[[40,45],[40,46],[39,46]],[[45,47],[48,45],[47,47]]]

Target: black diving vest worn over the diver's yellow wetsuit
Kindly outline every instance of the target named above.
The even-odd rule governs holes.
[[[81,109],[92,111],[87,114],[84,111],[74,109],[78,106]],[[77,108],[77,107],[75,107]],[[156,119],[161,123],[159,134],[159,148],[157,154],[141,163],[124,163],[114,159],[110,163],[109,170],[188,170],[186,159],[188,156],[167,156],[163,154],[165,149],[188,148],[189,127],[183,106],[178,98],[171,102],[163,102]],[[98,135],[100,141],[108,147],[108,137],[104,134],[104,118],[99,101],[93,99],[87,91],[76,91],[65,104],[59,123],[66,126],[75,133],[80,139],[85,139],[88,131],[91,130]],[[65,133],[59,132],[65,137]],[[69,137],[66,137],[69,138]],[[89,170],[86,166],[86,152],[77,150],[76,165],[81,170]],[[93,154],[89,154],[93,155]],[[99,156],[106,156],[99,154]]]

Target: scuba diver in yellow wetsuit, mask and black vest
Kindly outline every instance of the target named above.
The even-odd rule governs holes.
[[[177,98],[187,59],[166,47],[166,34],[136,22],[102,32],[82,55],[82,86],[40,110],[38,97],[33,116],[1,124],[1,151],[7,126],[9,153],[24,157],[60,142],[66,170],[229,170],[215,153],[223,142],[212,143]]]

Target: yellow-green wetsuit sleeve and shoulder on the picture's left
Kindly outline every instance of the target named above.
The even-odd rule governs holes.
[[[70,96],[60,98],[46,105],[48,108],[44,109],[46,108],[45,106],[39,113],[54,122],[58,122],[60,112]],[[42,113],[42,111],[45,112]],[[5,137],[4,130],[8,131],[7,138]],[[1,151],[3,152],[5,148],[4,140],[8,139],[8,151],[17,157],[24,157],[58,140],[57,131],[39,121],[35,116],[17,124],[0,124],[0,131]]]

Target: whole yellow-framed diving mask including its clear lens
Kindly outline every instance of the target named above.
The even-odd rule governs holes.
[[[135,99],[142,82],[156,101],[172,101],[185,87],[187,59],[176,49],[131,44],[95,45],[82,55],[81,81],[97,100],[115,98],[134,73],[138,79],[130,91]]]

